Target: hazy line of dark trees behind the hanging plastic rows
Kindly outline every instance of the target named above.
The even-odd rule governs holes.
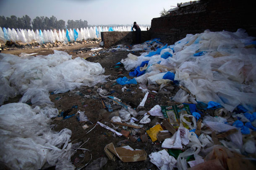
[[[64,20],[57,20],[55,16],[52,17],[36,17],[33,20],[28,15],[21,18],[17,18],[15,15],[10,17],[0,16],[0,27],[5,28],[21,28],[21,29],[33,29],[33,30],[49,30],[49,29],[73,29],[88,27],[86,20],[68,20],[68,24],[65,24]]]

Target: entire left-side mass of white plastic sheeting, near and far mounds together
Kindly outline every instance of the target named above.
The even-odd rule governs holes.
[[[0,103],[22,94],[19,103],[0,107],[2,162],[12,169],[74,169],[70,161],[71,130],[51,130],[58,110],[49,92],[64,93],[80,86],[105,82],[104,68],[83,58],[71,59],[68,53],[54,51],[48,56],[21,57],[0,54]],[[31,103],[32,107],[25,103]]]

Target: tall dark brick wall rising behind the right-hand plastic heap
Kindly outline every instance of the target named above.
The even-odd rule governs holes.
[[[172,44],[186,34],[202,33],[206,29],[235,32],[238,28],[243,28],[249,36],[256,37],[253,4],[253,1],[201,0],[199,3],[180,7],[165,17],[152,19],[152,38],[160,38]]]

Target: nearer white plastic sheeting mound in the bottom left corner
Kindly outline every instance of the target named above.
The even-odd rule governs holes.
[[[48,111],[51,112],[50,108]],[[12,170],[37,170],[55,165],[56,170],[74,170],[71,143],[68,143],[71,130],[54,132],[50,121],[39,107],[32,109],[23,103],[1,106],[0,161]]]

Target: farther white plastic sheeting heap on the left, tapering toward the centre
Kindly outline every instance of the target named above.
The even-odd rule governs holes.
[[[22,102],[31,99],[32,104],[51,104],[49,91],[57,94],[94,86],[106,81],[103,73],[99,63],[71,59],[63,51],[36,57],[0,54],[0,104],[17,94],[24,95]]]

